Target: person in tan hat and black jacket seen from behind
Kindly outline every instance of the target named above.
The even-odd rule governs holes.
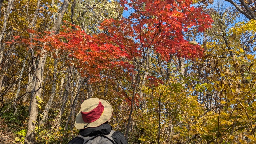
[[[112,111],[112,106],[107,100],[98,98],[85,100],[75,121],[76,129],[80,130],[79,135],[68,144],[127,144],[124,135],[112,130],[112,126],[108,124]]]

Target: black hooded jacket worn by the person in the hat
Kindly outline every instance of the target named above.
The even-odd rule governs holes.
[[[86,129],[82,129],[79,131],[79,134],[82,136],[94,136],[97,134],[109,134],[111,131],[112,127],[109,124],[102,124],[98,127],[88,127]],[[124,135],[116,131],[112,135],[113,140],[115,141],[115,144],[127,144],[127,141],[124,137]],[[75,137],[74,139],[70,140],[68,144],[83,144],[84,140],[80,137]]]

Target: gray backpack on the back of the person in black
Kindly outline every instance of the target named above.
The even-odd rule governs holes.
[[[111,137],[116,131],[111,130],[111,132],[108,135],[105,134],[98,134],[96,136],[81,136],[78,135],[78,137],[84,139],[83,144],[115,144],[113,138]]]

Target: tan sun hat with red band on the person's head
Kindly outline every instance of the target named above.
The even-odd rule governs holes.
[[[98,127],[110,119],[112,111],[113,109],[107,100],[98,98],[85,100],[76,116],[75,127],[78,130]]]

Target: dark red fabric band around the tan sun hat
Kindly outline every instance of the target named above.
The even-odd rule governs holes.
[[[92,123],[100,118],[104,111],[104,106],[99,102],[98,106],[89,112],[82,112],[81,115],[85,123]]]

